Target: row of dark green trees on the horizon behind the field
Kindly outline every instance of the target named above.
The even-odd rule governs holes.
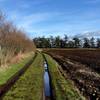
[[[60,36],[49,38],[37,37],[33,39],[37,48],[100,48],[100,39],[74,37],[69,39],[67,35],[64,38]]]

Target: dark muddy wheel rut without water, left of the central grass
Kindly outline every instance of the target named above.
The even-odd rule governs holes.
[[[0,86],[0,100],[2,100],[3,96],[7,91],[10,90],[10,88],[14,85],[14,83],[20,78],[21,75],[25,73],[25,71],[28,69],[28,67],[32,64],[34,59],[36,58],[37,54],[15,75],[13,75],[6,84],[3,84]]]

